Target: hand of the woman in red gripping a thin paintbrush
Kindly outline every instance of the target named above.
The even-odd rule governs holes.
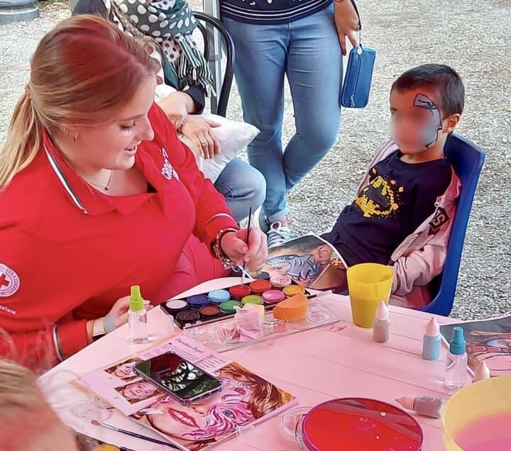
[[[222,237],[220,247],[231,262],[238,265],[246,262],[249,269],[259,271],[268,260],[266,235],[258,228],[251,228],[248,245],[245,239],[246,229],[229,232]]]

